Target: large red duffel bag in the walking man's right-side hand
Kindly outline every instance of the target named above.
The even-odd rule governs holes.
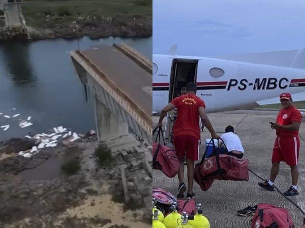
[[[225,145],[224,142],[223,144]],[[206,191],[211,187],[213,180],[249,180],[247,159],[239,159],[235,156],[219,154],[219,151],[216,150],[215,145],[214,152],[216,155],[205,158],[206,151],[207,148],[200,163],[195,165],[194,177],[194,180],[200,185],[200,188],[203,191]]]

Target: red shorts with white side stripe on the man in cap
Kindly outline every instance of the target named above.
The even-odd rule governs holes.
[[[298,165],[300,149],[300,138],[289,137],[281,138],[276,137],[272,151],[272,163],[286,162],[289,166]]]

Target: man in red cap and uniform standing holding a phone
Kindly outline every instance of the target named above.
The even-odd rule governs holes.
[[[291,168],[292,184],[284,192],[286,196],[298,195],[298,159],[300,149],[299,128],[302,121],[301,112],[292,105],[292,97],[288,92],[280,95],[283,108],[280,110],[276,123],[271,128],[276,130],[276,138],[272,151],[272,167],[270,179],[267,182],[258,182],[258,185],[269,191],[274,191],[274,181],[280,170],[280,162],[286,162]]]

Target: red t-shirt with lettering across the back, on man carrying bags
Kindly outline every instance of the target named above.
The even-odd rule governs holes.
[[[191,135],[200,139],[198,108],[205,108],[204,101],[196,95],[185,94],[176,97],[171,103],[178,109],[173,136]]]

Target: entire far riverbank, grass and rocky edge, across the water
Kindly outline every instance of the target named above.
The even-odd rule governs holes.
[[[31,40],[152,35],[151,0],[25,0],[21,8]]]

